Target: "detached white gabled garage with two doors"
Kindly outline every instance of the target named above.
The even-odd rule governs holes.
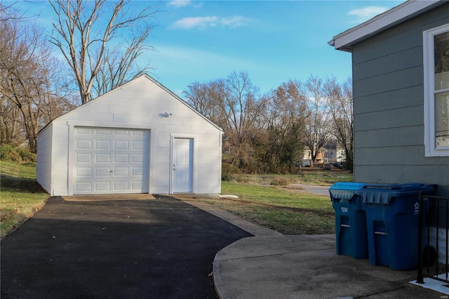
[[[52,196],[218,196],[221,142],[221,128],[143,75],[43,128],[37,181]]]

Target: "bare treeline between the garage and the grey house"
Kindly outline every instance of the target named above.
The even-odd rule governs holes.
[[[229,164],[248,173],[294,173],[304,149],[311,161],[331,143],[342,148],[352,169],[351,80],[311,76],[290,80],[260,95],[246,72],[190,84],[189,105],[224,131]]]

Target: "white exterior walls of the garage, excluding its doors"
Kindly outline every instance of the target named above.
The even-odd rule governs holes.
[[[166,112],[171,115],[163,117]],[[145,75],[55,119],[50,126],[53,126],[52,131],[47,127],[39,133],[42,147],[39,148],[38,143],[38,155],[42,158],[41,163],[38,159],[38,169],[42,171],[38,171],[38,182],[48,192],[53,192],[52,195],[73,193],[74,126],[149,130],[149,193],[154,194],[170,193],[173,138],[193,138],[193,193],[220,194],[222,131]],[[53,135],[51,149],[48,135]],[[48,166],[43,164],[48,161],[48,155],[51,155],[51,184],[48,183]]]

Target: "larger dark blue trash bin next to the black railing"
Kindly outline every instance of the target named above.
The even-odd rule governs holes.
[[[392,270],[417,268],[419,194],[429,195],[435,189],[436,185],[411,183],[368,185],[358,191],[366,211],[371,265]]]

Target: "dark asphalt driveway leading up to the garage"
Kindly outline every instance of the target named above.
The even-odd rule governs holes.
[[[250,236],[173,197],[52,197],[1,241],[1,298],[217,298],[215,254]]]

